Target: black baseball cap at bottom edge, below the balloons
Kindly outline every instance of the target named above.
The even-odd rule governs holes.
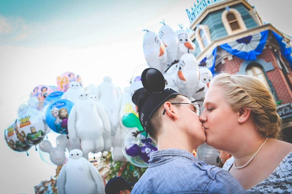
[[[106,194],[116,194],[124,189],[131,190],[134,187],[134,184],[135,183],[128,182],[123,177],[116,176],[112,179],[109,179],[109,182],[106,183],[105,192]]]

